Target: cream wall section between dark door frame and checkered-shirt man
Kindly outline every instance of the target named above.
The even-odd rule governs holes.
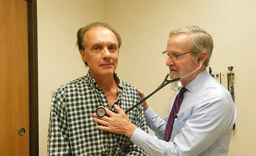
[[[104,21],[101,0],[38,0],[39,155],[47,155],[51,91],[88,71],[76,47],[76,32]]]

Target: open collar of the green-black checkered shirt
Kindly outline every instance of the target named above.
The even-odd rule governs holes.
[[[95,79],[92,77],[92,74],[90,73],[89,70],[88,70],[88,72],[87,72],[87,74],[86,74],[85,77],[88,79],[89,83],[90,83],[93,87],[95,87],[96,89],[101,89],[101,88],[97,85]],[[117,82],[117,84],[118,84],[118,92],[122,92],[122,89],[123,89],[123,81],[120,80],[120,78],[119,78],[119,76],[118,76],[118,74],[117,74],[116,72],[114,72],[114,78],[115,78],[115,80],[116,80],[116,82]],[[121,90],[120,90],[120,89],[121,89]],[[119,91],[119,90],[120,90],[120,91]]]

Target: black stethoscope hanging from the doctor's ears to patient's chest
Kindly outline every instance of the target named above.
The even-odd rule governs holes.
[[[183,79],[183,78],[186,78],[187,76],[190,76],[191,74],[193,74],[194,72],[198,71],[202,66],[202,63],[200,62],[200,66],[195,69],[194,71],[192,71],[191,73],[188,73],[187,75],[185,76],[182,76],[182,77],[179,77],[179,78],[175,78],[173,80],[168,80],[168,76],[169,76],[169,73],[167,73],[167,75],[165,76],[164,78],[164,81],[161,83],[161,85],[159,85],[158,88],[156,88],[156,90],[154,90],[154,92],[152,92],[151,94],[149,94],[148,96],[146,96],[144,99],[140,100],[138,103],[136,103],[133,107],[129,108],[128,110],[125,111],[125,113],[127,114],[128,112],[130,112],[130,110],[133,110],[133,108],[137,107],[138,105],[140,105],[141,103],[143,103],[144,101],[146,101],[150,96],[152,96],[153,94],[155,94],[156,92],[158,92],[160,89],[162,89],[164,86],[168,85],[169,83],[173,83],[175,81],[178,81],[180,79]],[[97,108],[96,110],[96,114],[99,116],[99,117],[104,117],[105,115],[106,116],[109,116],[107,115],[106,113],[106,110],[105,108],[103,107],[99,107]]]

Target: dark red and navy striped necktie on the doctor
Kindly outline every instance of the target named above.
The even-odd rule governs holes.
[[[176,96],[175,101],[173,103],[173,108],[171,109],[171,113],[167,121],[164,138],[163,138],[163,140],[165,140],[166,142],[168,142],[171,138],[171,132],[173,131],[173,123],[174,123],[175,115],[177,115],[180,110],[180,105],[183,100],[183,95],[186,91],[187,89],[185,87],[180,89],[180,92]]]

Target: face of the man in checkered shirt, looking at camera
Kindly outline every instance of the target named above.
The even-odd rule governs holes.
[[[113,76],[119,56],[118,41],[111,30],[97,27],[85,34],[85,56],[92,76]]]

